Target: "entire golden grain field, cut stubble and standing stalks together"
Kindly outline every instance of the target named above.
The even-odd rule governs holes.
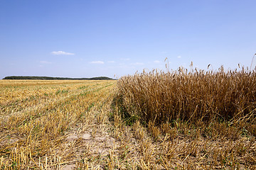
[[[1,80],[1,169],[255,169],[255,72]]]

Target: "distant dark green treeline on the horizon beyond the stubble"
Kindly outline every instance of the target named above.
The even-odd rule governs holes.
[[[112,80],[109,77],[92,77],[92,78],[65,78],[65,77],[22,77],[11,76],[4,79],[31,79],[31,80]]]

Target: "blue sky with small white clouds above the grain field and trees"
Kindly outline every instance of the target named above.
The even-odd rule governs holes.
[[[0,79],[250,67],[255,0],[0,0]]]

